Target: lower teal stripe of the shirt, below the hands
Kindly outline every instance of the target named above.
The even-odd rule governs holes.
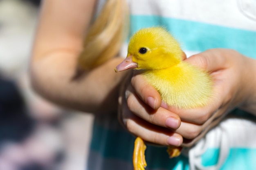
[[[103,158],[126,161],[132,164],[133,143],[135,137],[120,128],[110,130],[95,123],[91,150],[98,152]],[[202,166],[209,167],[218,163],[219,148],[208,148],[201,156]],[[248,159],[249,158],[249,159]],[[230,148],[227,160],[221,170],[253,169],[256,167],[256,148]],[[170,170],[188,170],[187,157],[180,156],[169,159],[164,147],[147,146],[146,161],[149,169],[167,168]]]

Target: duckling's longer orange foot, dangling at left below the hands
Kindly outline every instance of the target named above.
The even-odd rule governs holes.
[[[133,167],[134,170],[145,170],[147,163],[145,160],[145,150],[146,145],[144,141],[137,137],[134,142],[134,151],[133,151]]]

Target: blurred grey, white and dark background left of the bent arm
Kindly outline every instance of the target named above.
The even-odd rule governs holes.
[[[93,116],[30,87],[40,0],[0,0],[0,170],[85,170]]]

